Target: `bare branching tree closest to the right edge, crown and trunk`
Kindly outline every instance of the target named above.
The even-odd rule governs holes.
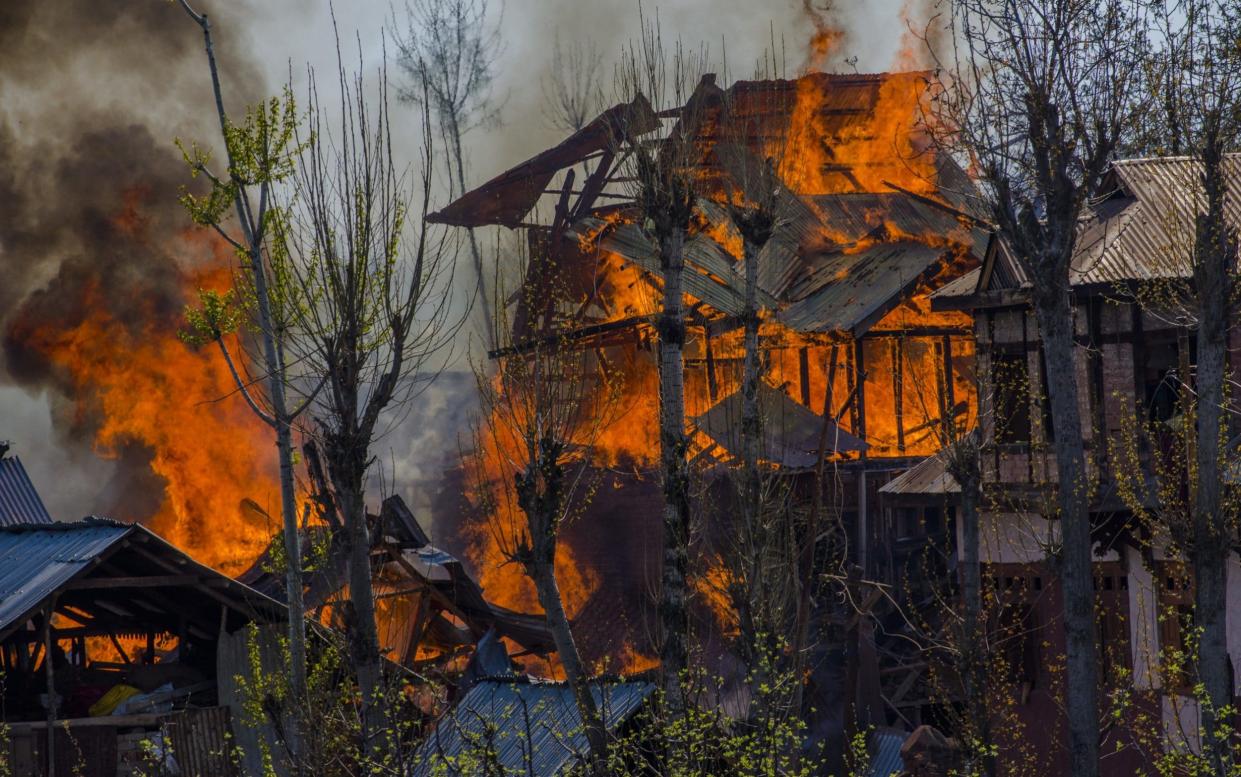
[[[1174,233],[1165,257],[1173,277],[1188,277],[1188,288],[1175,284],[1163,302],[1196,326],[1198,364],[1194,375],[1190,443],[1194,465],[1186,467],[1193,515],[1186,539],[1194,568],[1198,675],[1206,699],[1200,704],[1205,755],[1215,775],[1229,773],[1231,747],[1215,736],[1232,722],[1232,683],[1226,644],[1227,559],[1237,530],[1236,495],[1226,493],[1229,467],[1229,407],[1226,362],[1229,323],[1236,310],[1239,284],[1236,223],[1227,211],[1241,197],[1236,190],[1241,161],[1227,151],[1241,149],[1241,10],[1220,0],[1165,0],[1159,5],[1157,40],[1149,58],[1158,113],[1148,144],[1173,156],[1189,156],[1186,189],[1176,201],[1189,204],[1174,212]],[[1230,190],[1230,181],[1234,189]],[[1175,207],[1174,204],[1169,206]],[[1178,240],[1179,238],[1179,240]],[[1158,257],[1157,257],[1158,259]],[[1167,288],[1167,287],[1165,287]],[[1224,717],[1221,717],[1224,716]]]

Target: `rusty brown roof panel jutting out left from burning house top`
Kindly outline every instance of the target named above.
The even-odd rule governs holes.
[[[556,173],[591,154],[614,149],[625,137],[649,133],[658,127],[659,117],[639,94],[629,103],[608,108],[558,145],[465,192],[427,220],[458,227],[516,227],[539,202]]]

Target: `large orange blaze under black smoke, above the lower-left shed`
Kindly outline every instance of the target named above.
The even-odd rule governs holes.
[[[117,226],[140,228],[139,217],[127,209]],[[226,256],[221,252],[207,269],[185,273],[185,294],[226,288]],[[114,305],[141,300],[104,299],[89,287],[71,304],[87,312],[79,324],[53,329],[19,321],[15,334],[68,376],[79,418],[101,416],[98,454],[115,458],[130,446],[150,452],[151,472],[164,480],[151,529],[222,572],[243,571],[276,530],[244,506],[246,500],[277,516],[273,520],[279,516],[269,429],[235,396],[215,350],[189,348],[154,313],[138,333],[117,320]]]

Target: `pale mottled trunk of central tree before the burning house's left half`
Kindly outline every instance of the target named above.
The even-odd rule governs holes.
[[[685,228],[674,226],[660,237],[664,307],[659,317],[659,447],[664,474],[664,564],[659,601],[664,690],[673,705],[681,703],[681,673],[689,663],[690,499],[688,441],[685,438],[685,314],[681,273],[685,267]]]

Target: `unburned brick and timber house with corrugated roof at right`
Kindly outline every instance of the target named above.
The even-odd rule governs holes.
[[[1241,156],[1227,159],[1232,191],[1241,195]],[[1095,590],[1100,612],[1101,674],[1116,680],[1132,673],[1139,705],[1162,720],[1172,742],[1196,737],[1196,707],[1184,675],[1160,669],[1160,650],[1186,647],[1193,580],[1184,560],[1169,554],[1167,531],[1134,519],[1121,498],[1118,473],[1144,470],[1139,490],[1148,499],[1155,462],[1170,456],[1158,434],[1138,447],[1121,443],[1134,420],[1175,437],[1181,397],[1193,390],[1195,333],[1167,304],[1148,293],[1183,283],[1193,217],[1201,199],[1199,173],[1188,159],[1118,161],[1092,201],[1072,262],[1076,317],[1076,381],[1082,437],[1092,482]],[[1241,226],[1241,197],[1229,217]],[[993,240],[984,264],[932,295],[936,309],[965,310],[974,318],[982,434],[983,578],[1000,602],[998,628],[1010,680],[1020,689],[1020,716],[1042,757],[1059,768],[1066,741],[1057,709],[1054,669],[1064,652],[1062,603],[1046,547],[1059,536],[1050,515],[1056,478],[1039,329],[1029,304],[1031,279]],[[1163,304],[1160,302],[1163,300]],[[1232,385],[1241,379],[1241,330],[1229,343]],[[1236,400],[1234,398],[1234,402]],[[1234,412],[1230,437],[1236,436]],[[915,468],[889,487],[894,509],[951,509],[959,490],[933,463]],[[922,472],[918,472],[918,470]],[[1160,475],[1168,477],[1164,469]],[[1129,473],[1132,474],[1132,473]],[[1132,479],[1131,479],[1132,480]],[[1167,482],[1165,482],[1167,485]],[[1175,488],[1175,484],[1173,484]],[[896,505],[901,506],[897,508]],[[1229,611],[1241,612],[1241,564],[1232,556]],[[1241,662],[1241,619],[1230,618],[1229,653]],[[1104,750],[1124,741],[1111,730]],[[1104,775],[1132,773],[1132,751],[1103,760]]]

